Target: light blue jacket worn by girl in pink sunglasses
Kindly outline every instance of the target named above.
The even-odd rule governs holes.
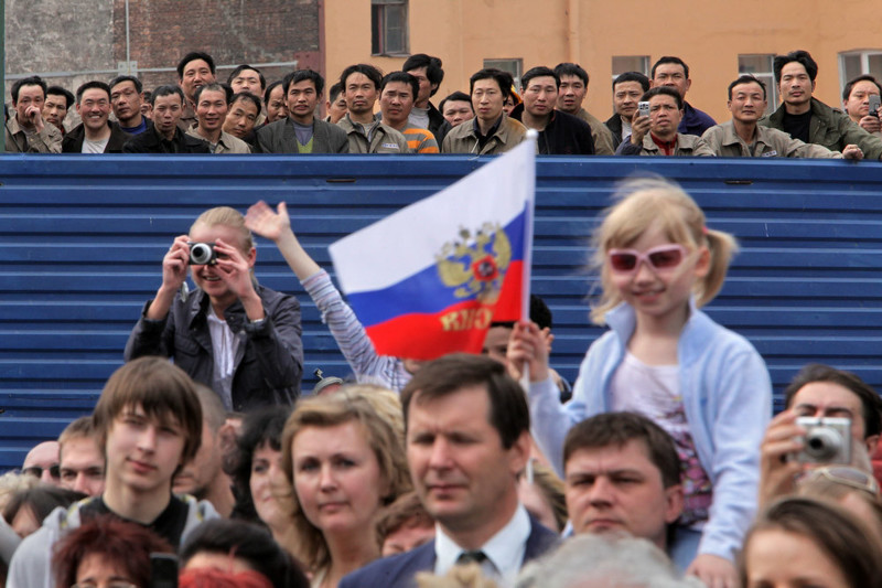
[[[560,404],[550,381],[530,386],[533,435],[560,474],[569,428],[611,409],[610,382],[636,325],[634,310],[625,303],[605,319],[612,330],[588,350],[568,404]],[[713,322],[691,301],[677,362],[686,420],[713,484],[698,553],[734,559],[756,510],[760,442],[772,418],[768,371],[746,339]]]

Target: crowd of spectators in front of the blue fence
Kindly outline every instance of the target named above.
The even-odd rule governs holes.
[[[252,234],[349,382],[301,394],[299,303]],[[93,414],[0,478],[7,586],[882,586],[878,393],[808,365],[772,418],[763,359],[701,310],[736,242],[679,186],[622,184],[593,239],[609,331],[570,387],[538,298],[483,354],[379,355],[283,203],[204,212]]]

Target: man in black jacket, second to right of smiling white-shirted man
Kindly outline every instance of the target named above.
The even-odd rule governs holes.
[[[150,95],[153,127],[136,135],[122,147],[123,153],[211,153],[208,143],[181,130],[184,93],[180,86],[160,86]]]

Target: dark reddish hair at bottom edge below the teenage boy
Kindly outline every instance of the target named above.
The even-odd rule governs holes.
[[[104,560],[126,570],[136,586],[150,585],[150,554],[173,554],[165,539],[135,523],[114,515],[95,516],[63,535],[55,544],[52,566],[55,586],[73,586],[76,573],[86,556],[99,555]]]

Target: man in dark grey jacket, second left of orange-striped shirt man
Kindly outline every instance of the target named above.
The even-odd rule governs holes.
[[[257,151],[263,153],[348,153],[346,132],[315,118],[324,78],[312,70],[284,76],[288,116],[257,129]]]

